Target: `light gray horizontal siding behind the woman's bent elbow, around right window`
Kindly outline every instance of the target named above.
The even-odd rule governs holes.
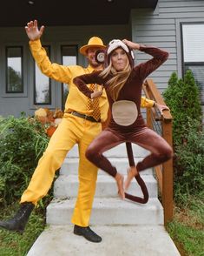
[[[161,47],[170,53],[168,61],[149,77],[160,91],[167,88],[173,71],[181,77],[181,27],[182,22],[204,22],[204,1],[159,0],[155,10],[132,10],[132,38],[139,44]],[[204,42],[203,42],[204,43]],[[138,63],[147,59],[136,53]]]

